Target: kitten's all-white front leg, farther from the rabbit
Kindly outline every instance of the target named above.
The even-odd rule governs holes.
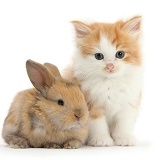
[[[133,146],[136,144],[132,135],[136,118],[136,108],[126,108],[117,114],[112,138],[118,146]]]

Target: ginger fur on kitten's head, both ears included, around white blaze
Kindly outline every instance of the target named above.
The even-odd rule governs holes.
[[[136,21],[136,22],[135,22]],[[77,34],[77,47],[85,55],[95,54],[102,37],[107,37],[116,50],[126,53],[123,59],[126,63],[141,64],[141,52],[137,39],[139,38],[141,17],[136,16],[127,22],[85,24],[72,21]],[[130,34],[128,34],[130,33]]]

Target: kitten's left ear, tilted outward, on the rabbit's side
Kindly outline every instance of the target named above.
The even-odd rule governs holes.
[[[76,36],[78,38],[82,38],[82,37],[88,35],[91,32],[91,29],[85,23],[82,23],[80,21],[72,21],[72,24],[75,28]]]

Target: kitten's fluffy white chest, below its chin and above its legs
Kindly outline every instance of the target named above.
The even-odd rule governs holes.
[[[103,106],[106,114],[114,115],[136,99],[134,87],[125,79],[92,79],[82,83],[88,92],[88,101],[95,106]]]

